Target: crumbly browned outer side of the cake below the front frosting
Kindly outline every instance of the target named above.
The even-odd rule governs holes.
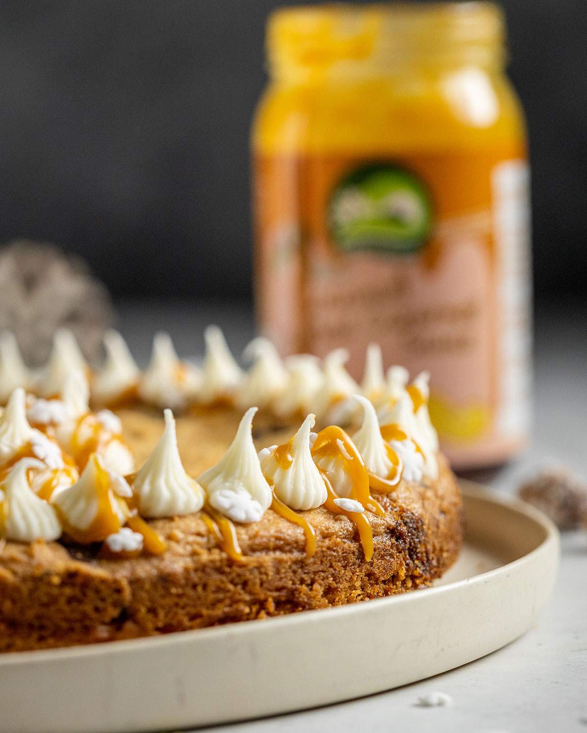
[[[462,501],[448,463],[440,476],[373,493],[374,553],[356,528],[319,507],[303,512],[317,535],[307,558],[302,530],[274,512],[238,526],[244,561],[216,545],[199,515],[154,520],[162,556],[84,556],[56,542],[7,542],[0,554],[0,652],[153,636],[329,608],[429,586],[462,546]]]

